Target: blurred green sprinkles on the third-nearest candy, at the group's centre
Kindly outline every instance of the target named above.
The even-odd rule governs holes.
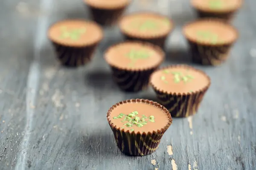
[[[126,54],[126,57],[131,59],[131,63],[129,63],[129,65],[132,66],[137,61],[137,59],[148,59],[151,55],[152,55],[152,53],[150,53],[146,50],[131,49],[131,51],[129,51]]]

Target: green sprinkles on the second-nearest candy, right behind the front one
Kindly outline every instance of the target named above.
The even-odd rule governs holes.
[[[181,81],[183,81],[183,82],[189,82],[189,81],[191,81],[192,79],[194,79],[194,77],[193,76],[191,76],[191,75],[189,75],[189,74],[187,74],[186,76],[185,75],[183,75],[181,72],[170,72],[169,70],[163,70],[163,73],[165,73],[165,74],[169,74],[169,73],[171,73],[171,74],[173,74],[174,75],[174,82],[175,83],[179,83],[179,82],[181,82]],[[168,83],[168,81],[166,80],[166,77],[165,76],[161,76],[161,80],[163,81],[163,82],[165,82],[165,83]]]

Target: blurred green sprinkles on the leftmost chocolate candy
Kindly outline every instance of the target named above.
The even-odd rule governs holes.
[[[78,40],[81,37],[81,34],[86,32],[86,28],[80,29],[73,29],[67,31],[67,27],[61,27],[61,38],[67,39],[70,38],[71,40]]]

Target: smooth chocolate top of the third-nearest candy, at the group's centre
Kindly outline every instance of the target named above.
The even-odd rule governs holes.
[[[163,62],[163,51],[141,42],[123,42],[113,45],[105,52],[108,64],[127,70],[142,70],[157,67]]]

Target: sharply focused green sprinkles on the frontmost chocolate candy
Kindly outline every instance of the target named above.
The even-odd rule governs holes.
[[[129,113],[128,115],[125,115],[123,113],[120,113],[118,116],[114,116],[113,119],[123,119],[121,122],[124,122],[124,126],[126,127],[132,127],[132,126],[137,126],[137,127],[143,127],[144,125],[147,125],[148,122],[155,122],[154,121],[154,116],[138,116],[137,111],[133,111]],[[124,127],[121,127],[122,129]],[[134,131],[134,129],[131,129],[131,131]]]

